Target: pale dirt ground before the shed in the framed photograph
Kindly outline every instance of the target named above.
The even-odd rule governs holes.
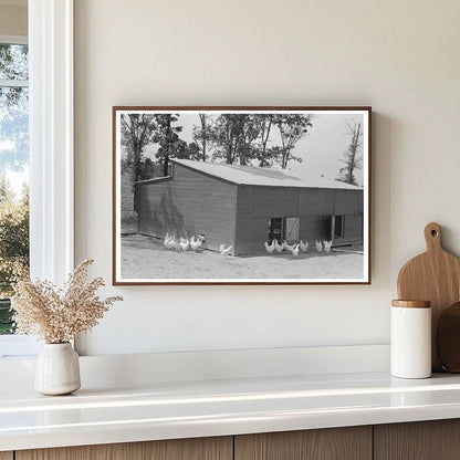
[[[122,278],[127,279],[362,279],[363,254],[291,253],[223,257],[218,252],[176,252],[163,241],[140,234],[122,237]]]

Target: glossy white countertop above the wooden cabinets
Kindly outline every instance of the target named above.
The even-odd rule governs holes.
[[[386,373],[0,391],[0,450],[460,417],[460,376]]]

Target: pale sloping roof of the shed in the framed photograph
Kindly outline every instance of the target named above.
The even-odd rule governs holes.
[[[237,185],[363,190],[362,187],[352,186],[339,180],[331,180],[323,177],[303,178],[280,169],[176,158],[172,158],[171,161]]]

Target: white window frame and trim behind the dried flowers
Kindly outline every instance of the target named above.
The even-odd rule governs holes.
[[[29,45],[30,272],[62,284],[74,266],[73,0],[29,0],[15,40]],[[0,336],[0,358],[38,349],[35,337]]]

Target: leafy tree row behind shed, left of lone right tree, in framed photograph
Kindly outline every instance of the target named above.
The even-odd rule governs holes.
[[[285,169],[295,156],[296,144],[313,126],[310,114],[198,114],[192,140],[180,135],[179,114],[123,114],[122,145],[126,156],[122,168],[133,174],[133,180],[169,174],[170,158],[202,161],[220,160],[228,165],[257,165]],[[273,145],[273,139],[276,139]],[[146,157],[147,145],[158,146],[155,160]]]

